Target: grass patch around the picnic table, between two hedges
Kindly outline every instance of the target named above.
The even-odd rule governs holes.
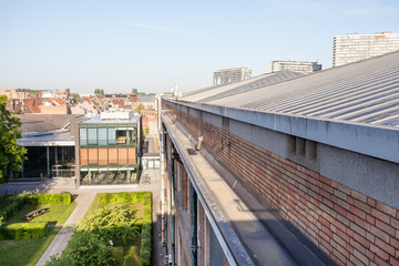
[[[31,222],[48,222],[50,224],[64,224],[75,206],[76,206],[75,202],[72,202],[71,204],[24,205],[7,222],[7,224],[31,223]],[[32,218],[31,221],[22,219],[23,215],[37,208],[48,208],[49,212],[35,218]]]

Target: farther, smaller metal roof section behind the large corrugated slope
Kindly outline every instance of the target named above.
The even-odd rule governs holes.
[[[241,82],[209,86],[193,92],[186,92],[183,94],[182,100],[206,103],[299,76],[303,76],[303,74],[289,71],[268,73]]]

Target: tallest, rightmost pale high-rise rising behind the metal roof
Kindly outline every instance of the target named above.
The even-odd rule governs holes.
[[[334,37],[332,66],[352,63],[399,50],[399,33],[347,34]]]

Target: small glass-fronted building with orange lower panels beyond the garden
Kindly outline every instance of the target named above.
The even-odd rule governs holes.
[[[141,170],[141,115],[104,112],[79,123],[78,185],[137,184]]]

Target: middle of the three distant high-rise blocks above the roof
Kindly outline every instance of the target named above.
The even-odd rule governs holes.
[[[310,74],[321,70],[321,64],[317,62],[299,62],[276,60],[267,65],[267,72],[293,71],[303,74]]]

